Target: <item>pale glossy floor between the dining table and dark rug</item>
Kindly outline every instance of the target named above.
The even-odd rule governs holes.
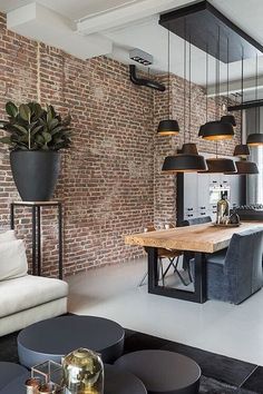
[[[263,365],[263,289],[235,306],[150,295],[138,287],[146,260],[68,278],[69,312],[115,319],[126,328]]]

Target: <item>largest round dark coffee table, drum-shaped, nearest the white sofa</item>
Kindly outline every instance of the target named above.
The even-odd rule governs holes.
[[[123,354],[124,328],[107,318],[62,316],[32,324],[18,335],[18,354],[22,365],[31,367],[47,359],[57,363],[78,347],[100,353],[104,363]]]

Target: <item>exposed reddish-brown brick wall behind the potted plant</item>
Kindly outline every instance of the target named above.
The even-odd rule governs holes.
[[[123,263],[142,255],[124,245],[125,234],[175,217],[174,177],[160,175],[163,159],[179,137],[155,137],[167,116],[167,92],[136,87],[128,67],[105,57],[82,61],[6,29],[0,16],[0,117],[8,100],[40,99],[72,115],[72,147],[62,154],[56,198],[64,201],[65,273]],[[167,77],[159,77],[165,82]],[[213,100],[210,114],[213,118]],[[205,97],[193,89],[192,135],[205,120]],[[172,78],[172,111],[183,131],[183,80]],[[231,154],[235,141],[224,146]],[[201,150],[214,149],[201,142]],[[0,146],[0,225],[9,226],[9,205],[17,200],[9,152]],[[17,229],[30,250],[30,215],[17,210]],[[45,275],[57,275],[57,223],[53,209],[42,221]],[[30,259],[30,253],[29,253]]]

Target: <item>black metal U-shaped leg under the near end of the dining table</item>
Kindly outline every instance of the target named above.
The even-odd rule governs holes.
[[[206,267],[203,253],[196,253],[194,292],[158,285],[158,249],[148,247],[148,293],[166,297],[206,302]]]

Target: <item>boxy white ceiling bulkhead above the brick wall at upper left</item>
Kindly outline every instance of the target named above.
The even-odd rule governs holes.
[[[111,40],[100,35],[76,35],[69,19],[36,2],[8,12],[7,27],[21,36],[60,48],[80,59],[113,51]]]

